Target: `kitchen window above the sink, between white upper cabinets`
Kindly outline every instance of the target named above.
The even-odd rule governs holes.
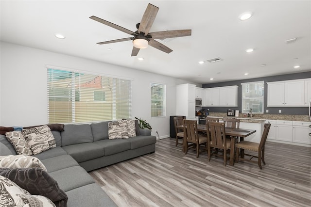
[[[263,113],[264,81],[241,83],[242,113]]]

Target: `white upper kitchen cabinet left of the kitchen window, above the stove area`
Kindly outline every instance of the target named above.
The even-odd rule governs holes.
[[[204,106],[237,107],[238,86],[225,86],[204,89]]]

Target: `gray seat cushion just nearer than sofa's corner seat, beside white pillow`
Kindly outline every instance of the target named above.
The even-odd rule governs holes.
[[[41,162],[49,173],[72,166],[79,166],[78,162],[70,155],[61,155],[53,158],[42,159]]]

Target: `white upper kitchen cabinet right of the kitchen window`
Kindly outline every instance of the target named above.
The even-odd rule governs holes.
[[[287,80],[267,82],[268,84],[268,107],[301,107],[308,106],[310,89],[308,84],[311,79]],[[309,94],[308,94],[309,93]],[[309,99],[310,100],[310,99]]]

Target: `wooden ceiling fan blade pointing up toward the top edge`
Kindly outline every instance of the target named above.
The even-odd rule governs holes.
[[[152,24],[155,21],[155,16],[158,10],[159,10],[158,7],[152,5],[151,3],[148,4],[146,11],[141,18],[141,21],[138,27],[138,33],[144,32],[145,35],[148,34]]]

